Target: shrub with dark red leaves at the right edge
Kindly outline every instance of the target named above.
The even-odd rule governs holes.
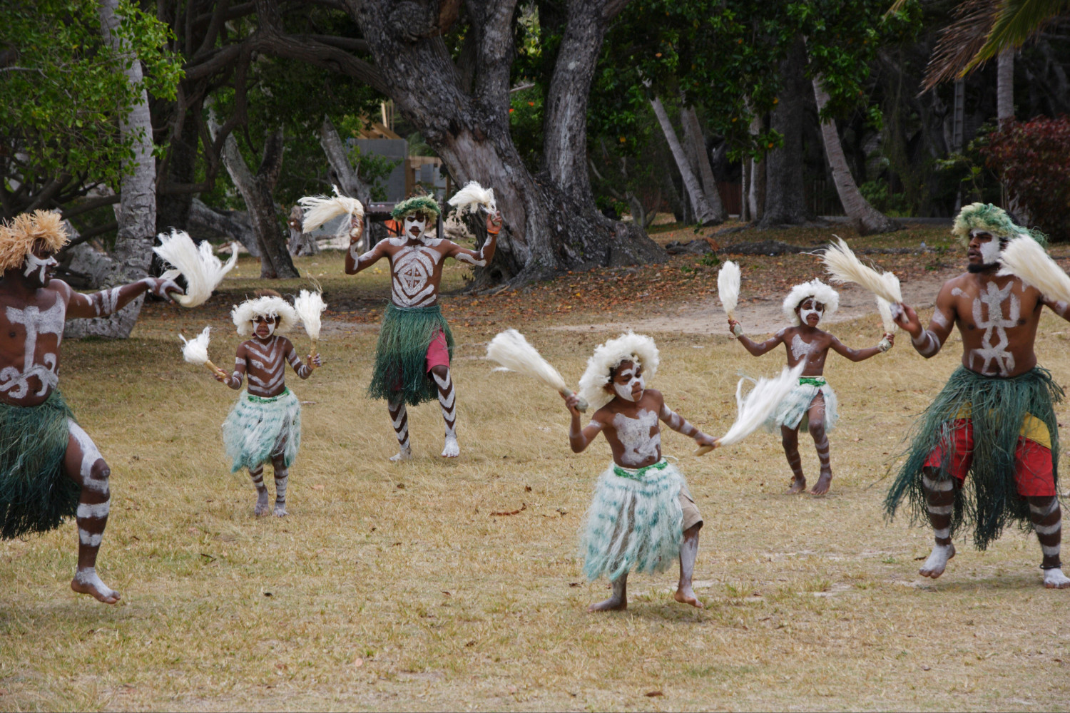
[[[1012,122],[981,153],[1034,227],[1070,241],[1070,118]]]

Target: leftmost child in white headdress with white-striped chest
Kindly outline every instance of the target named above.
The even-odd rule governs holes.
[[[319,355],[304,365],[293,343],[281,335],[297,321],[293,307],[274,290],[258,290],[255,299],[235,307],[230,315],[242,342],[234,356],[234,372],[215,378],[232,389],[242,387],[249,377],[248,390],[242,391],[238,403],[223,423],[223,443],[230,471],[248,468],[257,487],[257,515],[268,514],[268,486],[264,485],[264,463],[275,470],[275,516],[286,512],[286,485],[290,464],[301,446],[301,402],[286,387],[286,362],[301,378],[308,378],[320,366]]]

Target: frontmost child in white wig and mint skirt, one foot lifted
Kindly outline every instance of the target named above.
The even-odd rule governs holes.
[[[717,446],[666,405],[660,391],[646,388],[658,368],[654,340],[628,332],[595,350],[580,379],[579,394],[562,396],[572,416],[568,443],[582,452],[601,432],[613,450],[613,462],[598,478],[587,511],[582,549],[588,580],[606,575],[612,595],[588,611],[628,607],[628,572],[663,572],[679,559],[677,602],[702,607],[691,589],[699,553],[702,515],[676,467],[661,456],[658,419],[700,446]],[[580,428],[577,404],[595,409]]]

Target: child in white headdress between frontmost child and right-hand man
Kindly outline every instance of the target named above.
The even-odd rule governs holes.
[[[767,423],[770,431],[780,429],[781,443],[788,465],[792,469],[792,484],[789,493],[806,490],[802,475],[802,459],[799,458],[799,429],[807,429],[813,437],[821,462],[821,475],[811,493],[824,495],[832,482],[832,466],[829,458],[828,432],[836,428],[839,418],[836,409],[836,392],[823,376],[825,357],[832,350],[852,361],[862,361],[891,348],[895,335],[885,335],[876,346],[853,350],[839,339],[817,328],[825,317],[831,316],[840,305],[840,296],[821,280],[796,284],[784,298],[784,316],[794,322],[764,342],[751,341],[743,334],[743,325],[730,319],[729,329],[753,356],[761,356],[783,344],[788,352],[788,366],[806,362],[798,386],[785,398]]]

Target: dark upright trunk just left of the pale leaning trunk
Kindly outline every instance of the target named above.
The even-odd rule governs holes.
[[[773,128],[784,144],[765,155],[765,202],[759,228],[797,226],[807,221],[806,193],[802,184],[804,102],[810,92],[802,76],[806,46],[799,37],[780,62],[782,88],[773,109]]]

